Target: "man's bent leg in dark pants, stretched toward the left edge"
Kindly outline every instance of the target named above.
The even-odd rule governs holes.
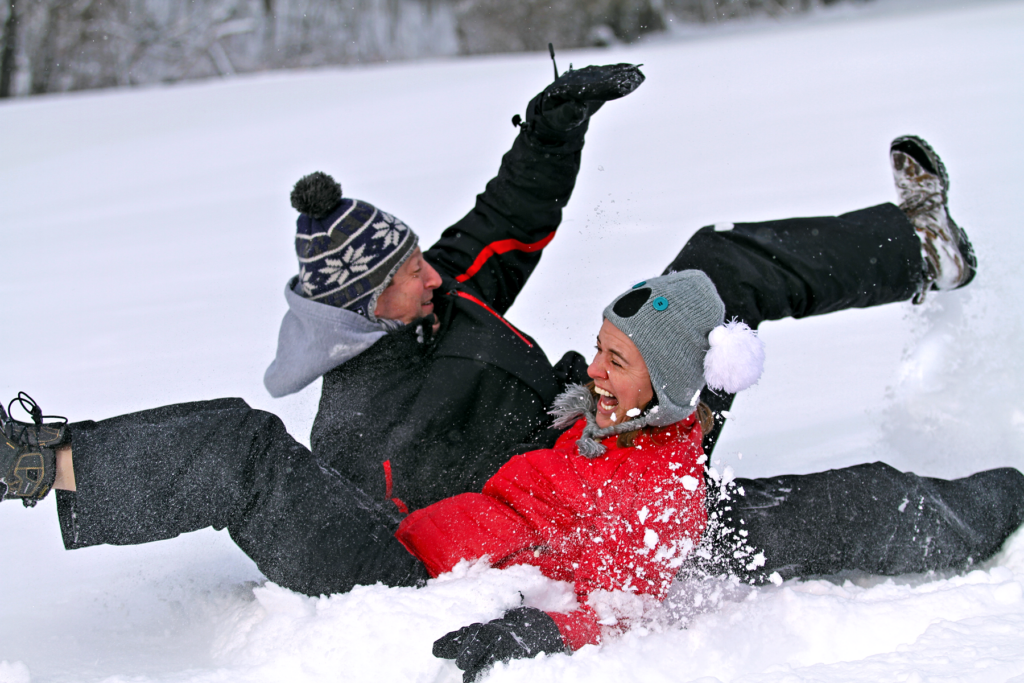
[[[70,426],[76,490],[65,545],[131,545],[226,527],[267,579],[309,595],[427,574],[391,504],[322,469],[273,415],[238,398]]]

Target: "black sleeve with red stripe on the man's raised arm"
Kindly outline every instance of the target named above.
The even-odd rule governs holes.
[[[546,121],[538,95],[476,206],[425,254],[500,313],[515,301],[555,237],[580,171],[589,120],[567,131]]]

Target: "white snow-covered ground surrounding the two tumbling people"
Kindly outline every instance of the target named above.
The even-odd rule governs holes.
[[[886,460],[1024,465],[1024,4],[941,3],[559,55],[643,62],[595,118],[559,238],[510,317],[557,357],[697,227],[893,199],[913,132],[952,175],[969,290],[766,324],[768,369],[716,453],[741,475]],[[101,419],[239,395],[307,438],[318,386],[261,384],[295,271],[291,184],[322,169],[429,244],[550,78],[543,55],[325,70],[0,105],[0,396]],[[52,498],[0,505],[0,682],[458,681],[430,643],[531,569],[309,599],[225,532],[62,550]],[[1024,681],[1024,535],[967,575],[790,582],[492,681]]]

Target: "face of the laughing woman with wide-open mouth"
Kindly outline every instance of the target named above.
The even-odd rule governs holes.
[[[598,427],[631,420],[654,397],[647,364],[639,349],[608,321],[604,321],[597,333],[597,355],[587,374],[594,380],[594,388],[599,394]],[[637,412],[630,415],[633,409]]]

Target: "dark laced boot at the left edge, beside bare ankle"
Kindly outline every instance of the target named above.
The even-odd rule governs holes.
[[[12,420],[14,403],[28,413],[32,422]],[[0,500],[17,499],[34,506],[49,493],[57,474],[56,449],[68,442],[68,420],[44,416],[39,405],[24,391],[7,405],[0,405]],[[53,420],[44,423],[43,420]]]

